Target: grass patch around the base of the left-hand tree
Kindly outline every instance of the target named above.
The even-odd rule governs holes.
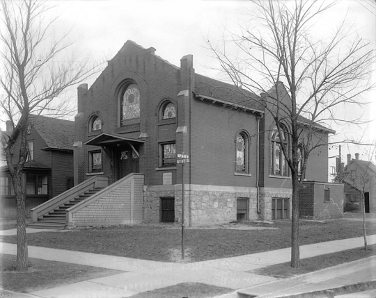
[[[28,272],[16,272],[15,263],[16,256],[0,254],[0,288],[15,292],[33,292],[58,285],[123,273],[123,271],[118,270],[37,258],[29,258]]]

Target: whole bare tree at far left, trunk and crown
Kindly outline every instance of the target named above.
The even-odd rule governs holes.
[[[89,65],[88,60],[70,61],[63,55],[73,42],[68,34],[55,39],[52,25],[55,19],[45,15],[51,7],[47,1],[1,0],[0,34],[2,44],[0,78],[0,108],[13,127],[12,133],[1,133],[1,142],[15,191],[17,205],[17,271],[28,270],[26,242],[25,199],[22,189],[22,170],[28,149],[26,130],[33,114],[63,117],[72,113],[69,101],[58,99],[63,91],[99,71],[98,65]],[[5,119],[3,119],[5,120]],[[11,156],[15,141],[21,140],[19,158],[13,165]]]

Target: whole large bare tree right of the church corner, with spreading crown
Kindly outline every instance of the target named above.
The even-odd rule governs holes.
[[[331,38],[315,38],[314,22],[334,2],[252,3],[249,24],[240,25],[240,33],[207,44],[239,92],[264,94],[258,101],[274,119],[279,135],[283,124],[289,126],[290,149],[284,142],[281,149],[292,176],[291,266],[299,267],[299,188],[308,156],[323,145],[313,142],[313,136],[327,120],[361,123],[360,117],[344,117],[338,110],[366,104],[361,94],[374,88],[369,80],[375,55],[369,42],[347,35],[345,22]],[[279,92],[281,82],[288,99]]]

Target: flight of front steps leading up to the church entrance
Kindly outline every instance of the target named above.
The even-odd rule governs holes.
[[[33,222],[33,224],[29,224],[29,228],[31,229],[65,229],[66,226],[66,212],[68,208],[75,206],[76,204],[88,199],[93,194],[96,194],[103,188],[95,188],[93,190],[88,190],[83,194],[79,194],[77,197],[73,198],[72,200],[58,206],[58,208],[54,208],[54,210],[50,211],[46,215],[42,215],[42,217],[38,218],[37,222]]]

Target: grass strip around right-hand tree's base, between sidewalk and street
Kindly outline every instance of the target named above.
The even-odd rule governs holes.
[[[276,264],[268,267],[251,270],[249,273],[273,276],[276,278],[286,279],[295,275],[305,274],[322,270],[327,267],[333,267],[343,263],[351,262],[352,260],[360,260],[361,258],[368,258],[375,256],[376,245],[368,245],[368,250],[364,247],[356,249],[348,249],[345,251],[338,251],[334,254],[324,254],[322,256],[315,256],[313,258],[303,258],[300,260],[299,268],[290,267],[290,262]]]

